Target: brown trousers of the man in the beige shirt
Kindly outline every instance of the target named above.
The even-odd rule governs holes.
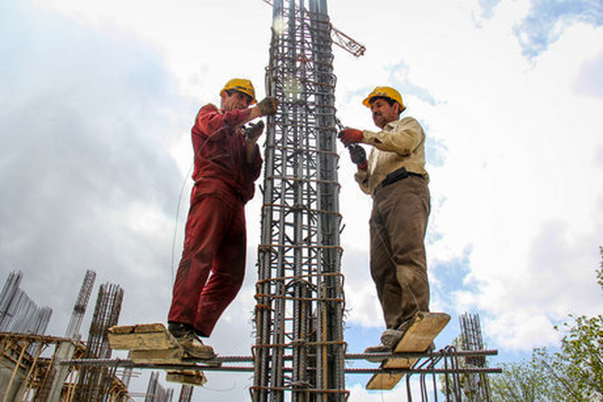
[[[429,311],[425,231],[430,196],[414,175],[377,187],[370,218],[371,276],[387,328]]]

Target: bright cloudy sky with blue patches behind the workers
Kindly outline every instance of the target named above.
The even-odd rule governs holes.
[[[569,313],[600,313],[601,2],[330,0],[329,13],[367,48],[357,59],[334,48],[339,119],[372,129],[361,100],[390,85],[428,136],[431,309],[453,317],[438,347],[463,312],[479,313],[504,359],[554,345]],[[2,2],[0,281],[21,269],[22,288],[54,309],[49,333],[65,332],[86,269],[94,297],[99,283],[123,287],[122,324],[165,321],[194,115],[232,77],[264,96],[270,19],[261,0]],[[383,325],[367,268],[371,201],[340,154],[346,338],[361,351]],[[253,342],[259,202],[247,206],[244,289],[211,339],[221,354]],[[247,399],[249,374],[208,375],[195,400]],[[347,378],[351,401],[405,392],[366,394],[365,380]]]

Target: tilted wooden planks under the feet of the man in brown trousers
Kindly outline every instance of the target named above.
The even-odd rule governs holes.
[[[411,327],[398,342],[394,353],[421,353],[426,351],[449,321],[450,316],[446,313],[418,312],[414,316]],[[411,368],[416,361],[417,358],[415,357],[410,359],[394,357],[384,360],[380,367],[384,369]],[[373,374],[373,377],[368,380],[367,389],[393,389],[402,380],[402,377],[404,377],[402,372]]]

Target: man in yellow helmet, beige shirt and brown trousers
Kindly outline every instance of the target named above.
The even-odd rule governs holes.
[[[430,197],[425,171],[425,134],[405,110],[400,93],[376,87],[362,102],[371,109],[376,133],[345,128],[339,133],[358,171],[361,190],[373,197],[370,269],[386,329],[381,344],[365,353],[396,347],[418,311],[429,311],[425,231]],[[371,146],[368,160],[362,146]]]

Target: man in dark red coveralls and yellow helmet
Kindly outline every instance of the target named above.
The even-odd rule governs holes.
[[[220,98],[220,108],[201,107],[192,127],[195,185],[168,315],[169,332],[198,359],[215,357],[198,337],[210,336],[245,274],[245,203],[262,168],[256,141],[264,123],[243,125],[277,108],[275,98],[257,103],[251,81],[241,78],[228,81]]]

